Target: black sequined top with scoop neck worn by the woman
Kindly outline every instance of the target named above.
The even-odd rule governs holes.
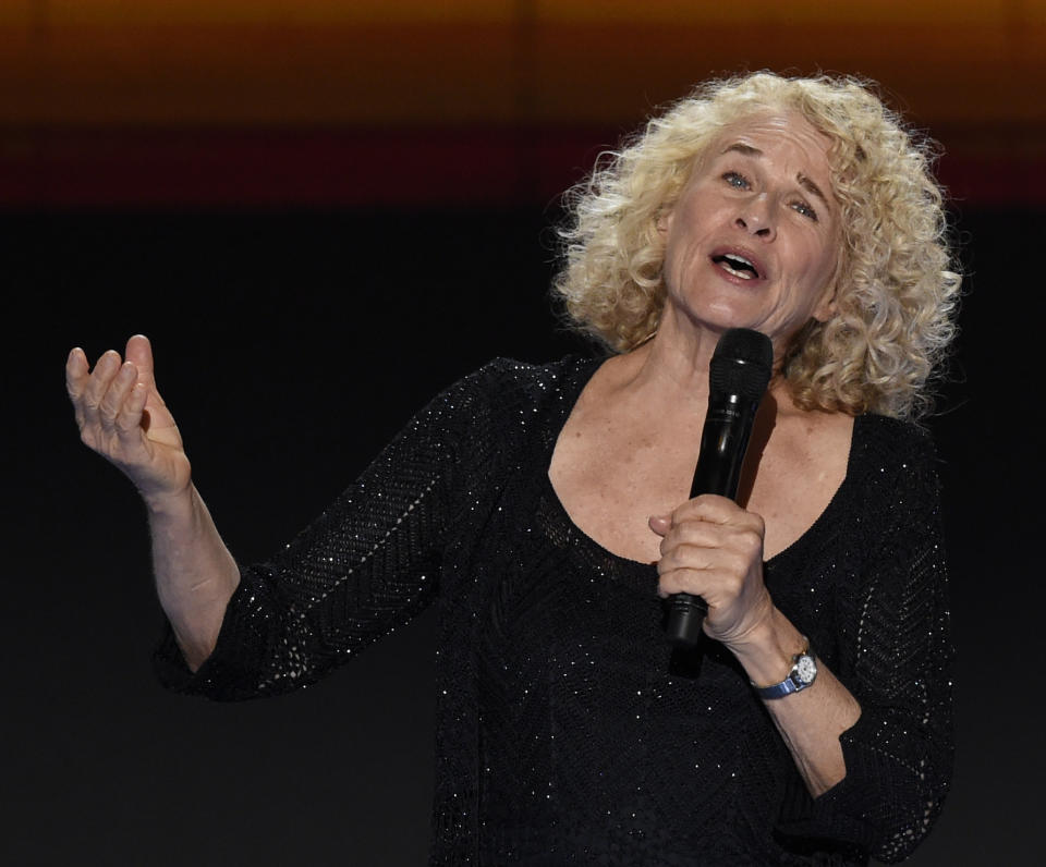
[[[813,799],[743,670],[672,659],[654,566],[609,553],[548,481],[598,365],[496,361],[422,411],[270,563],[243,570],[217,648],[172,688],[304,686],[439,610],[433,865],[893,862],[951,767],[935,456],[903,423],[854,425],[846,480],[766,564],[776,605],[862,707],[846,779]]]

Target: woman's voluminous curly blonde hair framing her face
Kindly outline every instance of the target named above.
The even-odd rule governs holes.
[[[782,110],[830,139],[842,255],[836,315],[800,330],[780,373],[806,410],[919,418],[954,335],[960,278],[949,270],[942,194],[931,174],[934,143],[905,130],[856,78],[758,72],[711,81],[650,120],[568,191],[554,294],[576,328],[611,351],[642,343],[665,304],[658,220],[725,127]]]

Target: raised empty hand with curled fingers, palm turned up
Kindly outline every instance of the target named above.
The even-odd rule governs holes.
[[[109,350],[93,370],[84,351],[74,349],[65,363],[65,387],[81,440],[118,466],[147,503],[188,491],[188,459],[156,388],[148,338],[131,338],[123,361]]]

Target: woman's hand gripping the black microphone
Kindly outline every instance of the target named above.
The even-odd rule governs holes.
[[[658,595],[688,593],[708,603],[704,631],[728,647],[769,619],[763,583],[763,518],[726,497],[702,494],[650,518],[661,536]]]

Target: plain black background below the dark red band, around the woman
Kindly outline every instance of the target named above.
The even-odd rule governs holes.
[[[8,341],[4,864],[422,864],[434,621],[327,682],[217,705],[150,672],[131,486],[78,442],[66,352],[153,338],[230,548],[266,557],[438,389],[544,361],[554,208],[0,217]],[[916,865],[1036,864],[1044,669],[1038,254],[1046,211],[956,212],[969,273],[941,455],[959,752]],[[695,432],[696,436],[696,432]]]

